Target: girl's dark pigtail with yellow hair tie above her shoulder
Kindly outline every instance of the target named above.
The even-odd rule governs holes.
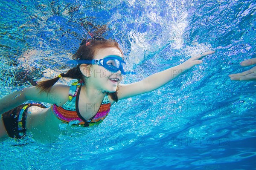
[[[46,91],[49,92],[52,86],[61,78],[61,77],[66,77],[66,78],[73,78],[73,79],[78,79],[78,80],[83,80],[83,75],[79,69],[79,65],[77,67],[74,67],[70,70],[67,71],[67,73],[61,73],[58,75],[56,78],[52,78],[46,81],[41,81],[38,82],[36,85],[39,89],[40,92]]]

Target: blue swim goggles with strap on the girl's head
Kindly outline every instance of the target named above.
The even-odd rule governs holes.
[[[103,59],[93,59],[93,60],[73,60],[68,61],[68,63],[77,63],[77,64],[96,64],[103,66],[105,69],[111,72],[118,72],[119,70],[123,75],[125,75],[124,67],[125,61],[117,55],[108,55]]]

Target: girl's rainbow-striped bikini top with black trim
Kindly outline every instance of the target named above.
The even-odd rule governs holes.
[[[94,124],[98,124],[106,118],[108,112],[110,111],[111,103],[108,99],[108,95],[106,94],[96,115],[94,115],[89,120],[85,120],[79,113],[78,109],[79,94],[82,85],[82,81],[73,83],[70,86],[69,100],[60,107],[58,107],[56,104],[53,104],[52,112],[61,121],[70,124],[80,124],[84,125],[84,127],[88,127]],[[76,98],[77,95],[78,97]]]

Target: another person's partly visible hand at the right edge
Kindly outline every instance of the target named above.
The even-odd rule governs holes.
[[[241,66],[251,66],[253,64],[256,64],[256,58],[251,58],[251,59],[242,61],[240,63]],[[232,74],[232,75],[229,75],[229,76],[230,76],[230,80],[256,81],[256,66],[254,66],[253,68],[251,68],[251,69],[249,69],[245,72]]]

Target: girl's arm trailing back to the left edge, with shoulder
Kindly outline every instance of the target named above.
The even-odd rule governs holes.
[[[64,104],[68,100],[69,86],[54,85],[49,92],[40,92],[37,86],[26,87],[1,98],[0,114],[13,109],[28,100],[47,102],[50,104]]]

